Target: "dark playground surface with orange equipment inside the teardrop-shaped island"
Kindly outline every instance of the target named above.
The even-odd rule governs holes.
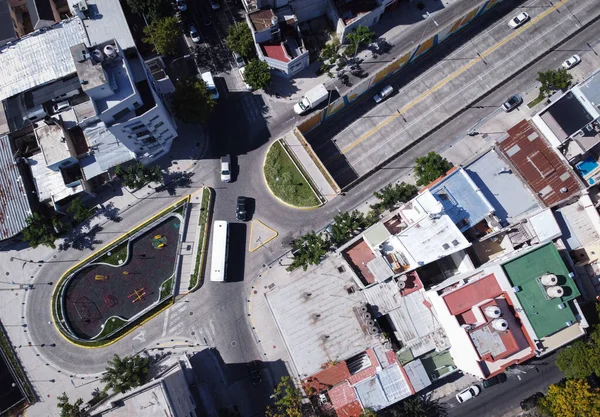
[[[160,301],[161,285],[175,273],[182,224],[174,214],[161,220],[128,239],[127,258],[121,264],[103,263],[110,256],[105,251],[70,278],[63,292],[63,313],[75,336],[93,339],[110,317],[129,321]]]

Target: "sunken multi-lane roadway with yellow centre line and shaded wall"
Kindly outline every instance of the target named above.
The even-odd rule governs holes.
[[[374,92],[367,93],[310,132],[307,140],[337,183],[347,187],[459,114],[567,32],[572,33],[575,28],[569,16],[552,11],[547,6],[531,8],[531,21],[516,30],[507,24],[514,11],[491,11],[384,82],[380,88],[389,84],[396,90],[387,100],[376,105]],[[486,107],[501,104],[483,101]],[[348,123],[350,120],[353,122]]]

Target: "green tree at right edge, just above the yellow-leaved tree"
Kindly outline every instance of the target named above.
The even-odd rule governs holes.
[[[577,340],[558,353],[556,366],[567,378],[600,377],[600,327],[595,326],[589,340]]]

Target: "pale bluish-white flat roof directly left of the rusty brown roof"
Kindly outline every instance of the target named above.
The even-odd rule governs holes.
[[[466,166],[465,171],[504,225],[515,223],[542,207],[494,149]]]

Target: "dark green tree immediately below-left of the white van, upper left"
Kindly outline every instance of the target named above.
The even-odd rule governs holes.
[[[185,78],[175,86],[171,104],[175,115],[182,122],[206,123],[216,102],[203,80]]]

